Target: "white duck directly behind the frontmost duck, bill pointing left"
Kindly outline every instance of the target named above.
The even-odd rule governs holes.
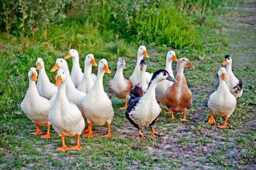
[[[79,91],[76,89],[74,83],[71,80],[71,77],[69,75],[68,70],[68,63],[66,60],[62,58],[58,58],[55,62],[54,67],[51,69],[52,72],[63,69],[66,72],[67,80],[66,80],[66,95],[68,97],[68,100],[78,107],[78,109],[81,111],[82,116],[84,117],[84,120],[86,121],[86,117],[84,116],[84,110],[82,106],[82,99],[86,95],[84,92]]]

